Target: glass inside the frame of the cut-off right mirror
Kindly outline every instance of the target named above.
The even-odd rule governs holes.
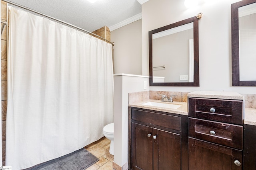
[[[256,80],[256,3],[238,8],[240,81]]]

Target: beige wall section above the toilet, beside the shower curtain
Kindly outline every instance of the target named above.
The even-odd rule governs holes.
[[[114,74],[142,75],[142,22],[134,21],[111,31],[113,47]]]

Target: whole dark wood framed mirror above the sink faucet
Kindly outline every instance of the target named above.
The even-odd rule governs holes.
[[[199,86],[198,19],[148,32],[149,85]]]

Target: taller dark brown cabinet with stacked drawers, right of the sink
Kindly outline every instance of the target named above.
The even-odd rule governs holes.
[[[243,101],[188,98],[189,170],[242,170]]]

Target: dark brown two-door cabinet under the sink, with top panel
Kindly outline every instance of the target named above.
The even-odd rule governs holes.
[[[131,107],[129,169],[188,170],[187,124],[187,115]]]

